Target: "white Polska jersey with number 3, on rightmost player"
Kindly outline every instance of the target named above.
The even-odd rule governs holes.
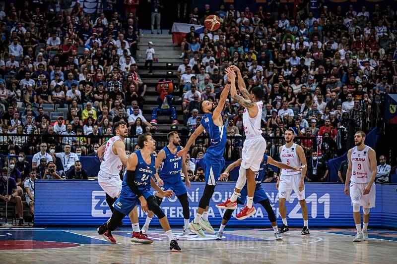
[[[351,182],[368,183],[372,174],[371,163],[369,161],[368,152],[371,148],[365,146],[362,151],[358,151],[354,147],[351,151]]]

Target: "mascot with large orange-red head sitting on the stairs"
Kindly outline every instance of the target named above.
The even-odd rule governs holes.
[[[157,83],[156,87],[159,97],[157,102],[159,102],[158,107],[155,107],[152,112],[152,120],[150,124],[157,125],[157,115],[170,115],[172,117],[172,124],[179,124],[177,120],[177,111],[175,107],[172,106],[172,93],[174,92],[174,84],[169,79],[161,79]]]

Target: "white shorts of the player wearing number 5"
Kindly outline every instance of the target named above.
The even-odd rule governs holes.
[[[305,200],[305,184],[303,184],[302,192],[299,191],[299,182],[301,180],[302,174],[295,175],[280,175],[280,183],[278,184],[278,197],[285,198],[289,201],[289,197],[294,191],[298,201]]]

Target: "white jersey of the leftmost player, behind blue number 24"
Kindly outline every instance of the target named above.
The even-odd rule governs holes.
[[[121,138],[119,136],[114,136],[106,142],[105,154],[101,162],[101,170],[114,176],[118,176],[123,167],[120,157],[114,154],[112,150],[113,144],[118,140],[121,140]]]

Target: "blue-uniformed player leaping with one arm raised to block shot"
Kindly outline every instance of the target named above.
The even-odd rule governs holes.
[[[190,230],[202,237],[205,237],[202,229],[211,234],[215,233],[215,230],[208,221],[208,205],[214,193],[216,182],[225,165],[223,154],[226,146],[226,124],[223,123],[221,112],[225,105],[229,90],[230,80],[228,80],[225,88],[220,94],[217,106],[213,102],[207,100],[201,102],[201,110],[204,112],[201,118],[201,124],[190,136],[185,149],[178,152],[178,157],[183,157],[183,160],[185,160],[189,148],[192,146],[193,142],[195,142],[196,138],[204,130],[208,133],[209,146],[202,158],[205,170],[205,188],[199,202],[199,208],[197,209],[195,219],[189,224]]]

